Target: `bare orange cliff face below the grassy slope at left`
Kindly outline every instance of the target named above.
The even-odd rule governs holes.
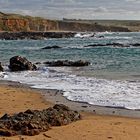
[[[32,19],[0,19],[0,31],[49,31],[57,30],[57,22]]]

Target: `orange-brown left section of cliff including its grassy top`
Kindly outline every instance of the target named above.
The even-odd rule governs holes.
[[[0,14],[0,31],[48,31],[56,29],[56,21],[39,17]]]

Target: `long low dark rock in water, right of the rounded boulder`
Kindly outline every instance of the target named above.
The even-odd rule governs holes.
[[[72,66],[72,67],[82,67],[82,66],[88,66],[90,62],[84,61],[84,60],[78,60],[78,61],[69,61],[69,60],[57,60],[57,61],[48,61],[44,62],[47,66],[53,66],[53,67],[60,67],[60,66]]]

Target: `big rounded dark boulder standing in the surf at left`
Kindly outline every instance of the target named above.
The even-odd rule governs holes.
[[[37,70],[37,67],[25,57],[14,56],[10,59],[9,68],[11,71]]]

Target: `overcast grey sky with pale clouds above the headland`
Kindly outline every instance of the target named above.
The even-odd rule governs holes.
[[[52,19],[140,20],[140,0],[0,0],[0,11]]]

